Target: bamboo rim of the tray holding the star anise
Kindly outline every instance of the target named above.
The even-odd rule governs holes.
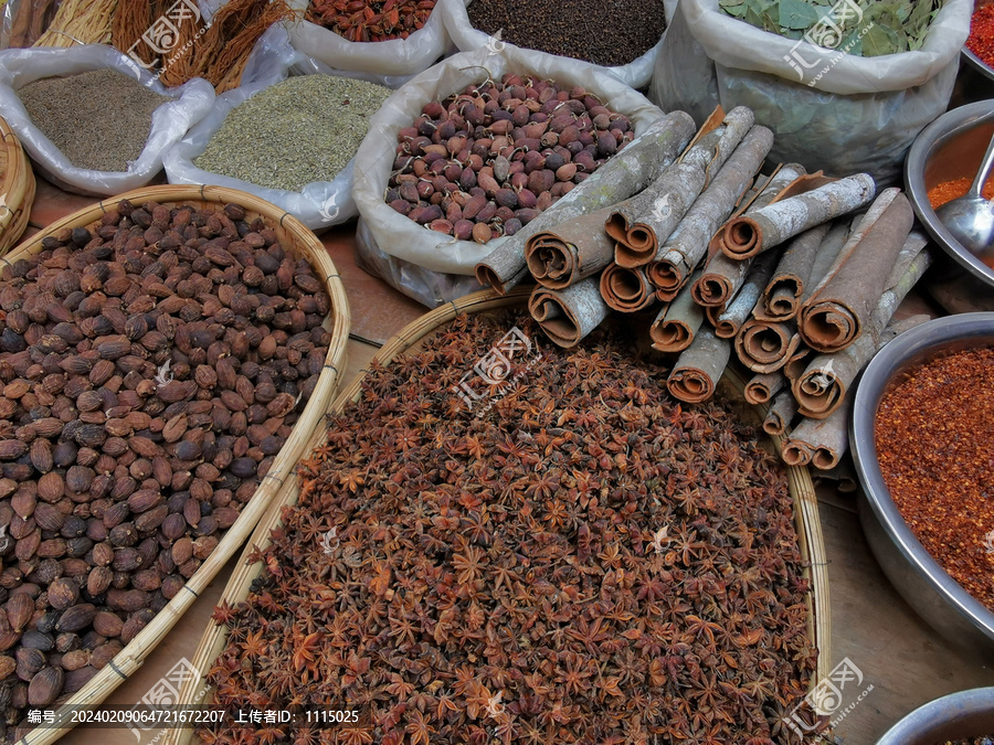
[[[493,290],[484,290],[467,295],[453,302],[447,302],[404,327],[380,349],[376,359],[382,364],[389,364],[398,355],[416,349],[417,343],[422,339],[431,336],[440,326],[447,323],[461,313],[483,313],[524,306],[528,300],[530,290],[530,287],[516,288],[505,296],[497,295]],[[331,404],[330,411],[332,413],[340,412],[348,403],[358,401],[361,395],[361,383],[362,376],[360,375],[347,387],[342,389],[335,398],[335,403]],[[741,401],[738,405],[740,415],[748,417],[747,421],[751,424],[758,425],[762,422],[765,415],[765,407],[750,406],[744,402],[742,391],[744,391],[745,381],[741,376],[732,371],[727,371],[721,384],[726,386],[726,391],[734,392],[733,395]],[[325,436],[326,432],[324,429],[316,429],[307,443],[306,451],[309,453],[320,445]],[[773,444],[778,450],[782,447],[783,441],[783,437],[773,438]],[[811,609],[808,635],[819,651],[818,667],[812,680],[812,687],[814,687],[818,680],[827,679],[832,659],[828,648],[832,629],[828,614],[828,576],[826,573],[825,544],[822,539],[818,503],[811,473],[807,468],[787,468],[786,470],[791,496],[794,501],[794,522],[801,554],[804,562],[808,564],[804,576],[810,579],[812,586],[812,593],[808,596]],[[266,514],[263,515],[255,532],[248,539],[248,544],[242,558],[235,566],[234,572],[232,572],[228,586],[224,588],[221,602],[235,605],[248,596],[250,585],[258,576],[262,564],[248,564],[246,556],[253,550],[253,546],[263,549],[268,545],[269,531],[279,524],[282,508],[296,503],[298,494],[297,478],[287,480],[278,497],[273,501]],[[228,628],[211,624],[193,656],[192,666],[197,674],[180,691],[179,704],[192,706],[211,701],[213,691],[205,681],[207,673],[218,656],[224,650],[226,642]],[[165,742],[169,745],[187,745],[199,741],[195,741],[192,728],[183,728],[170,731]]]

